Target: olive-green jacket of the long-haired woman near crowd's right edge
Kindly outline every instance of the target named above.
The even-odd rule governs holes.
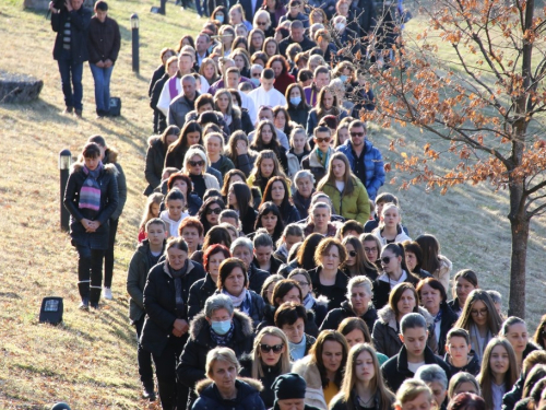
[[[363,225],[370,219],[370,201],[368,192],[360,179],[351,177],[354,190],[351,195],[344,195],[337,190],[335,183],[327,183],[322,191],[330,197],[334,206],[334,212],[346,220],[355,220]]]

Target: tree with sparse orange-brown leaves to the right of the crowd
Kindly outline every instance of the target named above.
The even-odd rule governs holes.
[[[387,48],[352,56],[375,83],[376,110],[363,117],[427,131],[417,137],[422,152],[388,165],[408,176],[403,187],[426,184],[444,194],[458,184],[490,181],[508,190],[509,315],[524,317],[530,221],[546,210],[544,13],[534,0],[437,0],[420,14],[426,28],[415,37],[399,20]],[[380,35],[370,44],[381,44]],[[446,149],[436,148],[438,140]],[[452,168],[431,166],[450,155]]]

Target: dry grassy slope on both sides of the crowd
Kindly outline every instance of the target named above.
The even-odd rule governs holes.
[[[192,11],[167,4],[167,15],[151,14],[151,0],[110,2],[110,15],[121,26],[122,49],[112,75],[112,95],[122,97],[122,117],[94,119],[93,81],[84,70],[84,118],[61,115],[62,93],[51,50],[55,34],[44,14],[24,11],[22,0],[0,2],[2,49],[0,70],[32,73],[44,80],[39,101],[0,105],[0,409],[45,409],[63,400],[73,409],[140,409],[134,331],[127,318],[124,280],[136,244],[146,184],[143,176],[146,140],[151,134],[147,81],[158,65],[162,47],[174,47],[182,34],[202,24]],[[131,72],[129,16],[140,16],[141,75]],[[417,23],[408,24],[415,30]],[[114,278],[115,300],[96,313],[78,311],[76,254],[59,230],[58,153],[75,155],[83,142],[103,134],[118,149],[129,196],[118,231]],[[406,151],[422,147],[423,134],[412,128],[381,130],[370,139],[387,161],[393,138],[404,137]],[[447,167],[449,163],[436,166]],[[394,173],[389,178],[396,176]],[[510,231],[505,192],[488,186],[461,186],[441,197],[423,187],[396,192],[412,237],[435,234],[454,270],[473,268],[485,288],[508,295]],[[544,265],[546,220],[533,222],[529,248],[527,318],[534,328],[545,311]],[[64,323],[38,324],[44,296],[64,297]]]

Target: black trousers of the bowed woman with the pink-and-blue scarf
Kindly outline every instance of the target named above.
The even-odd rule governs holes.
[[[105,251],[78,245],[78,289],[82,301],[97,304],[103,289],[103,259]]]

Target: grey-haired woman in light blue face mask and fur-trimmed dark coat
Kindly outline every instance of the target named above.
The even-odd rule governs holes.
[[[237,358],[252,351],[252,320],[236,311],[227,295],[215,294],[205,302],[203,312],[193,318],[189,339],[177,366],[177,378],[192,389],[205,378],[206,353],[217,345],[229,348]],[[194,401],[192,394],[190,400]],[[188,406],[191,409],[191,406]]]

